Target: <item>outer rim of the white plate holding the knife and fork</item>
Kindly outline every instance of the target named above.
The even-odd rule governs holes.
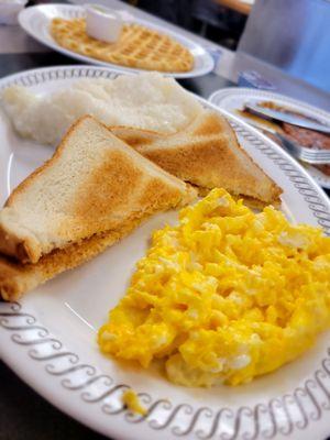
[[[297,106],[301,107],[307,112],[314,112],[314,113],[319,114],[321,118],[324,118],[326,120],[328,120],[328,122],[330,124],[330,112],[328,112],[327,110],[323,110],[319,107],[312,106],[308,102],[300,101],[299,99],[292,98],[292,97],[285,96],[283,94],[277,94],[276,91],[271,91],[271,90],[253,89],[253,88],[249,88],[249,87],[226,87],[223,89],[218,89],[218,90],[213,91],[209,96],[208,101],[218,106],[219,108],[221,108],[222,99],[226,99],[228,96],[233,96],[233,95],[240,96],[241,92],[248,94],[251,96],[253,96],[255,94],[260,94],[261,96],[264,96],[265,98],[270,98],[273,100],[280,99],[280,100],[287,102],[288,105],[293,105],[295,107],[297,107]],[[330,176],[327,176],[326,174],[323,174],[322,172],[320,172],[319,169],[317,169],[310,165],[306,169],[308,169],[308,173],[320,186],[322,186],[326,189],[330,189]]]

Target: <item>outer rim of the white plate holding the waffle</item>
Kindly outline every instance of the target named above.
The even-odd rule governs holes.
[[[43,38],[42,35],[38,35],[37,33],[34,32],[33,29],[30,26],[30,21],[29,19],[33,16],[34,13],[38,13],[40,11],[43,11],[45,9],[51,9],[51,8],[59,8],[59,9],[66,9],[66,10],[79,10],[82,11],[84,8],[78,4],[65,4],[65,3],[47,3],[47,4],[37,4],[33,6],[30,8],[23,9],[19,15],[18,15],[18,21],[20,26],[33,38],[38,41],[41,44],[52,48],[55,52],[62,53],[65,56],[68,56],[70,58],[77,59],[82,63],[91,64],[91,65],[98,65],[98,66],[103,66],[111,68],[113,70],[117,70],[119,73],[140,73],[140,72],[152,72],[152,70],[144,70],[144,69],[139,69],[139,68],[133,68],[133,67],[125,67],[125,66],[120,66],[117,64],[108,63],[108,62],[102,62],[100,59],[91,58],[86,55],[80,55],[78,53],[75,53],[68,48],[59,46],[56,42],[50,42]],[[185,78],[196,78],[199,76],[204,76],[209,74],[210,72],[213,70],[215,68],[215,59],[211,56],[211,54],[200,44],[195,42],[194,40],[189,38],[186,35],[179,35],[177,32],[173,30],[167,30],[165,26],[161,24],[155,24],[155,23],[148,23],[147,21],[139,18],[134,18],[134,20],[143,25],[147,25],[150,28],[160,30],[161,32],[164,32],[165,34],[178,40],[182,42],[182,44],[185,45],[185,42],[189,43],[190,45],[195,45],[198,47],[198,50],[202,51],[202,58],[205,59],[205,67],[199,68],[197,70],[193,69],[190,72],[186,73],[161,73],[165,76],[168,77],[174,77],[178,79],[185,79]]]

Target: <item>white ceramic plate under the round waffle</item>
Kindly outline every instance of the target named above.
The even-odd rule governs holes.
[[[125,11],[121,12],[122,18],[127,22],[134,22],[139,24],[143,24],[147,28],[154,29],[157,32],[167,34],[172,36],[177,42],[186,46],[191,54],[194,55],[195,65],[193,70],[185,73],[167,73],[167,76],[173,76],[175,78],[193,78],[196,76],[202,76],[208,74],[213,69],[215,62],[211,55],[198,43],[194,42],[190,38],[183,36],[180,33],[166,29],[162,25],[150,23],[144,20],[140,20]],[[75,19],[85,16],[85,9],[79,6],[72,4],[41,4],[37,7],[26,8],[19,14],[19,23],[24,29],[28,34],[33,36],[40,43],[45,44],[46,46],[53,48],[54,51],[61,52],[64,55],[70,56],[72,58],[76,58],[82,63],[89,63],[94,65],[108,66],[117,72],[142,72],[138,68],[119,66],[112,63],[106,63],[98,61],[96,58],[91,58],[89,56],[79,55],[73,51],[66,50],[59,46],[52,35],[50,34],[50,23],[56,18],[61,16],[63,19]],[[143,70],[145,72],[145,70]]]

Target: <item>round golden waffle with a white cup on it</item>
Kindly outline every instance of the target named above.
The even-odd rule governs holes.
[[[189,72],[194,67],[186,47],[140,24],[124,24],[116,43],[87,35],[85,19],[53,19],[51,34],[62,47],[120,66],[158,72]]]

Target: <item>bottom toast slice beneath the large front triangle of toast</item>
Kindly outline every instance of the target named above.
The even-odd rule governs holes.
[[[42,256],[36,264],[22,264],[0,255],[0,298],[2,297],[7,301],[20,299],[26,292],[103,252],[128,235],[142,220],[127,222],[117,230],[96,234],[80,243],[56,249]]]

